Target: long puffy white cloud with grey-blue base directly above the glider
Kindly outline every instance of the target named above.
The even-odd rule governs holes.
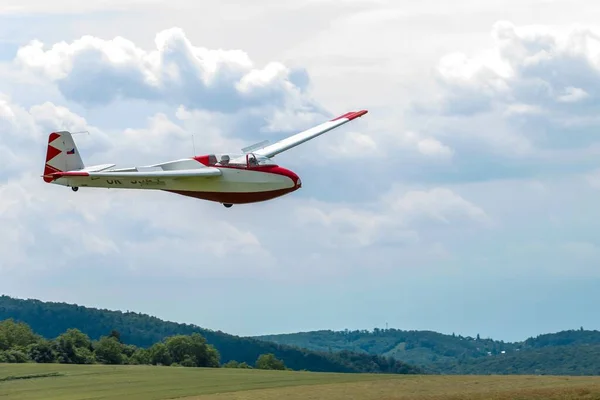
[[[147,51],[119,36],[83,36],[46,50],[34,40],[18,50],[15,62],[88,106],[133,98],[221,112],[287,103],[320,111],[294,79],[298,72],[279,62],[259,67],[242,50],[194,46],[179,28],[159,32],[155,45]]]

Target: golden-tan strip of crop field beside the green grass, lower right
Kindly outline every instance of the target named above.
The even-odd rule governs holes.
[[[570,400],[600,399],[600,377],[429,376],[308,384],[178,400]]]

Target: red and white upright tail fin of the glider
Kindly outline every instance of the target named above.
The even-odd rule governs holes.
[[[44,181],[52,182],[49,176],[55,172],[77,171],[85,168],[71,132],[52,132],[48,136]]]

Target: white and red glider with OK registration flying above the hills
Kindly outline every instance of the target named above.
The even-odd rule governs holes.
[[[208,200],[231,207],[233,204],[271,200],[302,186],[300,177],[282,168],[272,158],[342,126],[368,111],[351,111],[273,144],[268,141],[242,149],[236,154],[206,154],[160,164],[113,168],[116,164],[85,167],[69,131],[48,137],[43,179],[71,187],[153,189]]]

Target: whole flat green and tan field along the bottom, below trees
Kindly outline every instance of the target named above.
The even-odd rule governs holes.
[[[600,377],[415,376],[0,364],[0,399],[600,400]]]

